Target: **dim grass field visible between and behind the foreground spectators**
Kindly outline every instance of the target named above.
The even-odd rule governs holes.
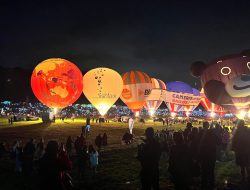
[[[84,120],[76,119],[74,122],[57,120],[55,123],[45,125],[41,121],[16,122],[13,126],[8,126],[7,120],[0,119],[0,141],[5,141],[11,146],[16,139],[20,139],[23,144],[31,137],[37,141],[43,137],[45,142],[51,139],[66,142],[69,135],[75,138],[81,133],[81,127],[85,125]],[[140,137],[147,127],[153,126],[155,130],[166,128],[162,123],[146,122],[146,124],[136,123],[134,134]],[[184,126],[176,125],[179,129]],[[85,179],[79,180],[76,177],[76,168],[73,168],[72,176],[75,185],[79,189],[140,189],[139,171],[140,164],[136,159],[137,143],[132,145],[122,145],[121,137],[127,130],[126,123],[102,123],[91,125],[91,134],[87,139],[88,144],[93,144],[96,135],[104,132],[108,135],[108,146],[100,153],[100,164],[96,178],[90,178],[87,172]],[[230,156],[233,158],[233,155]],[[14,161],[4,159],[0,162],[0,189],[38,189],[36,174],[25,177],[16,176],[14,172]],[[222,189],[225,184],[238,184],[240,180],[239,169],[231,159],[227,162],[219,162],[216,165],[216,179],[218,189]],[[161,158],[160,162],[160,185],[161,189],[173,189],[167,172],[167,159]]]

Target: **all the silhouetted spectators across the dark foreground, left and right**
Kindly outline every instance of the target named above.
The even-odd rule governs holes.
[[[184,130],[178,131],[154,131],[149,127],[145,136],[137,152],[142,189],[159,189],[161,158],[168,162],[175,189],[213,189],[216,186],[215,163],[226,161],[230,149],[235,152],[242,181],[250,182],[250,130],[242,120],[232,128],[208,122],[203,122],[199,128],[187,123]],[[94,177],[102,147],[108,145],[106,133],[98,134],[94,144],[88,144],[87,137],[81,133],[75,139],[69,136],[65,143],[51,140],[46,146],[42,138],[37,143],[30,139],[24,146],[16,141],[9,151],[4,143],[0,143],[0,158],[10,153],[18,175],[32,175],[34,170],[38,171],[42,189],[74,189],[70,176],[73,163],[76,164],[78,179],[83,179],[88,169]],[[136,138],[128,130],[122,141],[129,145]]]

